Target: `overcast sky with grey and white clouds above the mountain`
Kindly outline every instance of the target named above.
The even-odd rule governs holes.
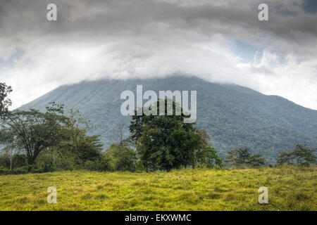
[[[175,73],[317,109],[317,1],[1,0],[0,82],[13,108],[84,79]]]

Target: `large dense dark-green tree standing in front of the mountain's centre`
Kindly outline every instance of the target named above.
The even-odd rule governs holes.
[[[137,148],[139,160],[146,170],[170,170],[180,167],[196,167],[211,157],[208,136],[193,124],[184,123],[183,114],[167,114],[168,101],[165,100],[165,115],[159,115],[159,101],[156,102],[157,115],[133,115],[130,124],[130,139]],[[151,110],[151,108],[149,108]]]

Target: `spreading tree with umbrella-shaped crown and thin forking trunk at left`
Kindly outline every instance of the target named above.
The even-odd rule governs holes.
[[[15,148],[24,150],[27,163],[33,165],[42,150],[53,148],[66,139],[64,125],[67,123],[63,105],[51,103],[46,113],[34,109],[8,113],[2,129],[10,132]]]

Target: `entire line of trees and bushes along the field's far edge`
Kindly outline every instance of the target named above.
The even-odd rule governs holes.
[[[118,141],[106,150],[98,135],[89,136],[94,125],[77,110],[64,112],[64,105],[50,103],[45,112],[8,110],[11,86],[0,83],[0,172],[50,172],[58,169],[96,171],[156,171],[180,168],[247,168],[265,165],[262,155],[248,148],[230,150],[223,161],[204,130],[184,123],[181,115],[134,115],[123,136],[124,124],[118,124]],[[167,114],[169,101],[165,100]],[[175,102],[173,102],[175,110]],[[316,150],[296,145],[289,153],[280,153],[278,165],[316,164]]]

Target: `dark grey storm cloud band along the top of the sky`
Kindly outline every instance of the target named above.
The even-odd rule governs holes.
[[[52,1],[4,1],[0,6],[1,33],[40,32],[41,34],[86,32],[106,34],[124,30],[142,29],[151,22],[161,22],[179,28],[209,29],[218,23],[220,32],[230,32],[225,27],[247,30],[264,30],[280,37],[298,40],[292,32],[317,36],[316,17],[300,11],[300,4],[286,1],[268,1],[271,23],[259,23],[257,6],[261,1],[228,1],[223,6],[214,4],[182,6],[168,1],[54,1],[58,6],[58,21],[45,20],[46,4]],[[300,2],[300,1],[299,1]],[[305,1],[304,8],[313,10],[316,1]],[[315,7],[316,8],[316,7]],[[297,11],[294,11],[297,9]],[[284,15],[298,15],[282,17]],[[208,24],[211,23],[211,24]],[[198,27],[197,27],[198,26]],[[202,26],[202,27],[200,27]],[[214,27],[213,27],[214,28]],[[217,31],[217,30],[216,30]]]

